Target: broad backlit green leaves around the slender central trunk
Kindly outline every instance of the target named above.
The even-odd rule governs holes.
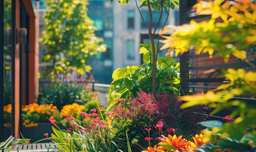
[[[113,81],[109,87],[112,94],[121,94],[120,98],[136,97],[140,89],[143,92],[151,92],[152,85],[152,47],[150,44],[141,44],[140,54],[143,54],[144,63],[140,66],[127,66],[113,72]],[[178,72],[180,64],[170,56],[157,59],[156,68],[156,94],[179,94],[180,77]],[[169,78],[169,80],[168,80]]]

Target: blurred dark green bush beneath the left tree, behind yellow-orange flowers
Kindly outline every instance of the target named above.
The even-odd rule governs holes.
[[[55,82],[53,88],[44,88],[38,95],[38,104],[49,104],[62,109],[63,106],[78,103],[84,104],[91,100],[93,92],[86,92],[77,84]]]

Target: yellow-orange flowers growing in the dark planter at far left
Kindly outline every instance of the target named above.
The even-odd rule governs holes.
[[[12,105],[4,106],[4,123],[5,127],[11,127]],[[22,120],[25,127],[38,126],[38,122],[47,122],[52,117],[53,112],[57,109],[51,103],[46,105],[38,105],[37,103],[30,103],[29,105],[22,106]]]

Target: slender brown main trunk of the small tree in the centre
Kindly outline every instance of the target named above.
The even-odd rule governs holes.
[[[155,43],[154,43],[154,36],[152,34],[152,23],[153,23],[153,17],[152,17],[152,10],[151,10],[151,5],[150,1],[147,0],[148,3],[148,13],[149,13],[149,28],[148,28],[148,37],[151,41],[151,46],[152,46],[152,86],[151,86],[151,93],[155,96],[155,86],[156,86],[156,48],[155,48]]]

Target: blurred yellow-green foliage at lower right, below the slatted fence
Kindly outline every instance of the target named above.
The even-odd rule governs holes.
[[[211,130],[202,130],[202,132],[206,134],[208,137],[213,136],[217,139],[221,139],[224,142],[228,142],[228,144],[232,144],[233,149],[248,150],[250,149],[248,143],[249,141],[242,142],[241,140],[245,139],[245,135],[248,136],[248,128],[256,128],[255,104],[246,103],[243,100],[239,99],[230,99],[242,95],[244,93],[256,92],[256,72],[245,72],[244,69],[228,69],[228,72],[229,74],[226,75],[226,77],[230,80],[229,83],[223,84],[216,89],[218,91],[221,90],[221,92],[217,92],[215,94],[212,91],[208,91],[206,95],[189,95],[180,97],[181,100],[189,101],[187,103],[184,103],[181,107],[186,108],[198,104],[211,103],[209,104],[209,106],[215,107],[215,109],[211,112],[212,115],[223,109],[230,110],[230,117],[238,118],[236,118],[232,122],[224,123],[223,126],[218,125],[212,127],[212,125],[207,126],[206,123],[202,123],[204,126],[212,128]],[[252,140],[251,142],[255,143],[255,130],[251,131],[250,137],[252,138],[250,138],[250,140]],[[238,143],[243,144],[244,146],[236,146]],[[217,145],[220,146],[221,144],[222,143],[217,143]]]

